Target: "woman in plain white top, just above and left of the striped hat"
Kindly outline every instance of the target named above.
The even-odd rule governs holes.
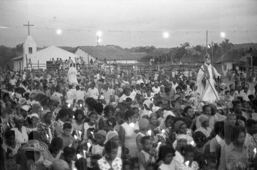
[[[20,143],[26,143],[28,141],[28,135],[26,127],[24,126],[24,118],[22,115],[16,115],[13,118],[15,126],[11,129],[15,133],[15,139]]]

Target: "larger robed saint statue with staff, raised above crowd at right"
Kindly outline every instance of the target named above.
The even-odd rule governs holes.
[[[200,67],[197,74],[197,92],[200,94],[201,101],[213,103],[219,100],[218,93],[215,89],[215,79],[221,74],[211,65],[210,55],[205,56],[205,64]]]

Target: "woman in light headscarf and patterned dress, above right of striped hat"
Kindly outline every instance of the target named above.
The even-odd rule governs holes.
[[[52,112],[50,110],[42,111],[42,121],[38,124],[38,131],[46,144],[50,144],[54,137],[54,125],[51,122]]]

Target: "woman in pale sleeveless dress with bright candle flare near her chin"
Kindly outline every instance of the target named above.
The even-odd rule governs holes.
[[[137,123],[137,115],[133,110],[127,110],[125,112],[124,122],[119,129],[119,136],[121,143],[130,150],[128,154],[131,158],[138,157],[136,135],[139,129]]]

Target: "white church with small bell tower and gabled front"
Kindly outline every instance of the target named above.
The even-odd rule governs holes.
[[[65,61],[68,60],[69,57],[71,57],[71,60],[75,62],[75,58],[79,57],[79,55],[56,46],[49,46],[36,51],[36,43],[32,36],[28,35],[26,41],[23,43],[23,54],[12,59],[13,70],[19,71],[31,69],[29,59],[31,60],[32,68],[46,69],[47,61],[51,61],[52,58],[54,58],[54,60],[61,58],[63,61]]]

